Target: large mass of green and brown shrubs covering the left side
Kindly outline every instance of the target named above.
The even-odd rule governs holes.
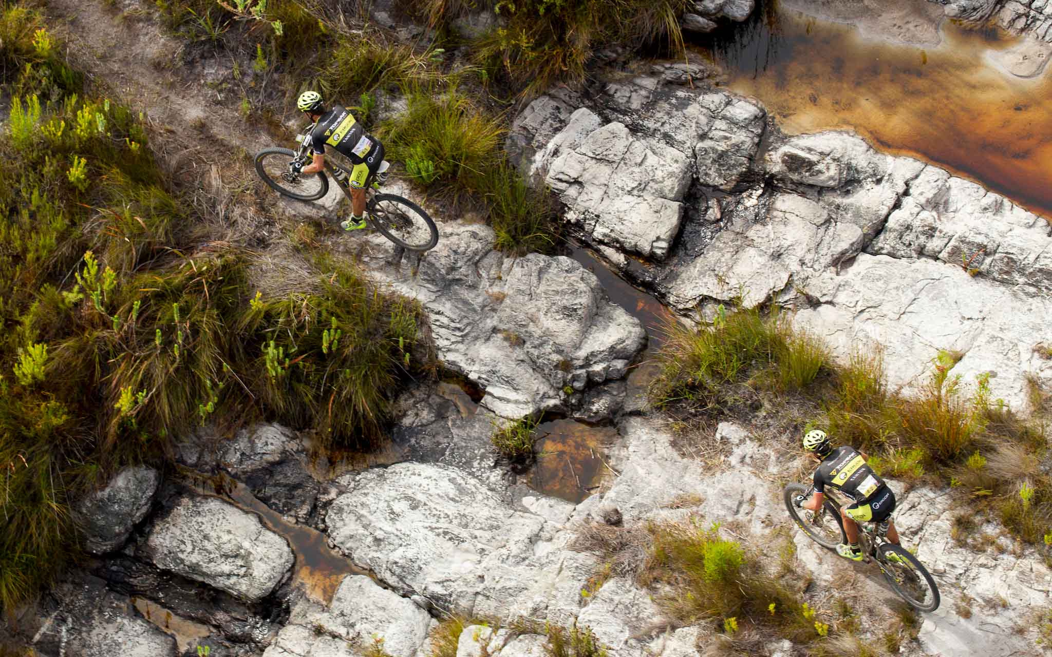
[[[429,360],[416,304],[324,256],[307,289],[256,293],[251,254],[202,240],[142,117],[84,96],[42,23],[0,15],[3,75],[18,76],[0,145],[7,611],[76,556],[70,500],[114,469],[163,465],[177,437],[229,414],[372,446]]]

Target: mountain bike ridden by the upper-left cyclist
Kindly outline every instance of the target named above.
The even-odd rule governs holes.
[[[350,169],[333,158],[325,158],[325,170],[303,174],[298,169],[312,160],[309,135],[313,125],[296,137],[296,150],[271,146],[256,153],[256,172],[271,189],[297,201],[317,201],[328,193],[328,173],[350,199]],[[297,167],[296,165],[300,165]],[[439,229],[419,205],[392,193],[378,193],[380,184],[369,173],[365,183],[365,220],[396,245],[410,251],[426,251],[439,243]]]

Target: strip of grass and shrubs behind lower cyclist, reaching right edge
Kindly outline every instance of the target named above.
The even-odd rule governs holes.
[[[1048,450],[1040,409],[1019,419],[990,397],[985,376],[964,394],[951,373],[959,354],[940,352],[925,385],[904,395],[888,389],[878,352],[836,365],[776,312],[720,312],[711,327],[668,332],[659,356],[664,371],[651,390],[658,405],[712,418],[748,412],[765,392],[793,392],[814,409],[810,424],[866,451],[878,473],[949,484],[1028,542],[1052,532],[1052,477],[1038,466]]]

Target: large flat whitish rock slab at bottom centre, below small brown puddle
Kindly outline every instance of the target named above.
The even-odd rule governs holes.
[[[568,536],[514,511],[478,480],[439,465],[349,474],[328,510],[328,534],[356,563],[403,595],[464,614],[565,622],[594,560]]]

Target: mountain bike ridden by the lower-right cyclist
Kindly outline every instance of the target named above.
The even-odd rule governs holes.
[[[827,550],[836,550],[837,545],[848,541],[841,518],[841,507],[846,500],[838,499],[832,489],[826,487],[822,509],[809,511],[797,506],[809,499],[813,491],[813,486],[803,484],[786,486],[782,493],[786,509],[796,527],[811,540]],[[891,588],[910,607],[920,612],[938,609],[939,596],[935,580],[908,550],[888,542],[887,522],[858,522],[858,547],[862,549],[864,562],[876,562]],[[897,560],[889,559],[890,555],[897,556]]]

